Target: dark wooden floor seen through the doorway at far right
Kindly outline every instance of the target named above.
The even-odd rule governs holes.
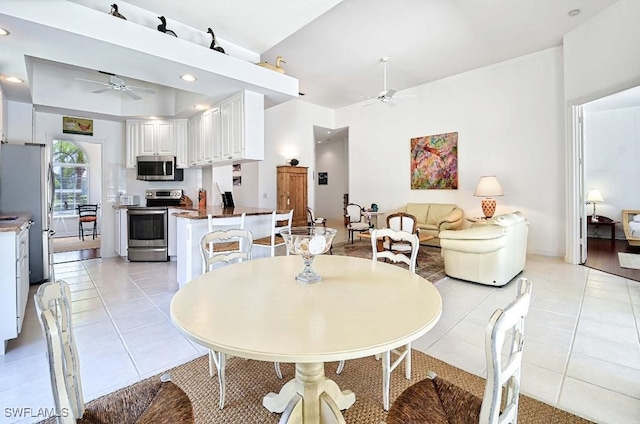
[[[587,239],[587,262],[584,265],[609,274],[640,281],[640,269],[620,267],[618,252],[640,254],[640,248],[629,246],[626,240],[590,237]]]

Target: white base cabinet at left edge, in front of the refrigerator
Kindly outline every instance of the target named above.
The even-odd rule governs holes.
[[[0,232],[0,354],[22,330],[29,297],[29,227]]]

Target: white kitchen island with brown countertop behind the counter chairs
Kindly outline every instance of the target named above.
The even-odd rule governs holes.
[[[171,214],[171,218],[177,218],[177,242],[178,284],[180,287],[202,274],[202,256],[200,254],[200,239],[209,231],[208,215],[216,218],[240,217],[245,214],[244,228],[253,233],[253,238],[266,237],[271,234],[271,214],[273,209],[251,208],[236,206],[223,208],[209,206],[199,209],[182,209]],[[216,225],[217,229],[230,228],[228,225]],[[253,252],[254,258],[266,256],[266,251],[259,249]]]

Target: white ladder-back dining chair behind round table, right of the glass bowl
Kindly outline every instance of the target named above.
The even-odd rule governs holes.
[[[395,253],[391,250],[385,249],[378,251],[377,244],[378,239],[384,239],[384,243],[392,244],[398,242],[408,243],[411,248],[409,256],[404,253]],[[377,261],[378,258],[390,259],[393,262],[403,262],[409,265],[409,271],[416,272],[416,258],[418,257],[418,249],[420,248],[420,241],[416,234],[408,233],[406,231],[394,231],[389,228],[383,228],[380,230],[374,229],[371,232],[371,251],[373,253],[373,261]],[[397,356],[393,362],[391,362],[392,355]],[[376,355],[378,358],[378,355]],[[411,343],[404,345],[402,350],[394,349],[382,353],[382,406],[385,411],[389,410],[389,391],[391,387],[391,372],[395,370],[400,363],[404,361],[404,374],[407,380],[411,379]],[[340,361],[338,364],[337,374],[342,372],[344,368],[344,361]]]

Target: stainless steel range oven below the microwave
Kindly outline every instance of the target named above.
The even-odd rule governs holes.
[[[168,206],[180,205],[182,190],[147,190],[147,206],[127,208],[128,257],[132,262],[169,260]]]

